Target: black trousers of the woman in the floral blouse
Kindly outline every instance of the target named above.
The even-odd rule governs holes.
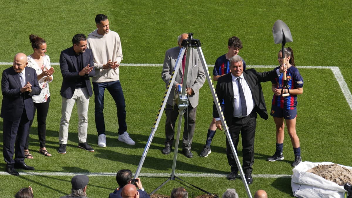
[[[28,135],[26,138],[26,144],[24,146],[24,149],[27,150],[29,147],[29,134],[31,131],[31,126],[33,123],[33,120],[37,113],[37,122],[38,122],[38,137],[39,137],[39,146],[40,148],[45,147],[45,137],[46,137],[46,117],[48,116],[48,111],[49,111],[49,103],[50,103],[50,96],[46,100],[45,103],[33,103],[34,104],[34,110],[33,110],[33,119],[29,123],[29,130],[28,130]]]

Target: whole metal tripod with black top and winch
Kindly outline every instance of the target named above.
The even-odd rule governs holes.
[[[186,51],[187,48],[192,48],[192,47],[195,47],[197,49],[197,52],[199,54],[199,57],[200,57],[200,61],[203,65],[203,69],[204,71],[207,71],[208,75],[206,75],[206,78],[208,80],[208,83],[209,83],[209,87],[210,87],[210,91],[212,92],[212,95],[213,95],[213,99],[215,101],[215,106],[216,106],[216,109],[218,110],[219,112],[219,117],[220,117],[220,120],[221,120],[221,124],[224,128],[224,132],[225,132],[225,135],[227,137],[227,141],[230,143],[230,147],[231,147],[231,151],[232,151],[232,154],[233,156],[235,157],[235,161],[236,161],[236,164],[237,164],[237,167],[238,167],[238,170],[240,172],[240,175],[241,175],[241,178],[242,178],[242,181],[243,181],[243,184],[246,188],[246,191],[247,191],[247,195],[248,197],[252,198],[252,195],[251,195],[251,192],[249,190],[249,187],[248,187],[248,184],[247,184],[247,181],[245,179],[245,175],[244,175],[244,172],[243,172],[243,169],[241,167],[241,164],[240,164],[240,161],[238,159],[238,155],[235,151],[235,148],[234,148],[234,145],[233,145],[233,142],[232,142],[232,139],[231,139],[231,136],[230,136],[230,133],[228,131],[228,127],[227,127],[227,124],[226,124],[226,121],[225,121],[225,118],[224,118],[224,115],[222,113],[222,110],[221,110],[221,106],[220,106],[220,102],[218,100],[218,96],[216,95],[216,92],[215,92],[215,88],[214,88],[214,85],[213,85],[213,81],[210,77],[210,73],[209,73],[209,70],[208,70],[208,66],[207,66],[207,63],[205,62],[205,58],[204,58],[204,55],[203,55],[203,52],[202,52],[202,49],[201,49],[201,43],[199,41],[199,39],[193,39],[193,33],[189,33],[188,35],[188,39],[184,39],[182,41],[182,49],[180,51],[180,54],[178,55],[178,58],[177,58],[177,61],[176,61],[176,66],[174,67],[174,70],[172,71],[172,75],[171,75],[171,78],[170,78],[170,81],[169,81],[169,84],[166,88],[166,91],[165,91],[165,94],[164,94],[164,97],[163,97],[163,100],[162,100],[162,103],[161,103],[161,106],[159,108],[159,111],[158,111],[158,114],[156,116],[156,119],[155,119],[155,122],[154,122],[154,125],[152,126],[152,131],[150,133],[150,136],[149,136],[149,139],[147,141],[147,144],[145,146],[145,149],[143,151],[143,154],[142,154],[142,158],[140,159],[139,161],[139,165],[137,167],[137,171],[136,171],[136,174],[134,175],[134,179],[138,178],[138,175],[140,173],[140,169],[142,169],[142,166],[143,166],[143,163],[144,163],[144,160],[145,160],[145,157],[148,153],[148,150],[149,150],[149,147],[150,147],[150,144],[152,143],[152,140],[153,140],[153,137],[154,137],[154,134],[158,128],[158,125],[159,125],[159,122],[161,120],[161,116],[160,116],[160,113],[162,113],[165,109],[165,105],[166,105],[166,101],[167,99],[169,98],[169,95],[170,95],[170,92],[171,92],[171,89],[170,89],[170,85],[174,85],[174,82],[175,82],[175,79],[173,78],[175,74],[177,74],[178,72],[178,69],[180,68],[180,65],[181,65],[181,62],[182,62],[182,57],[184,55],[184,52]],[[184,74],[183,74],[183,85],[182,85],[182,91],[181,91],[181,96],[180,96],[180,99],[178,100],[178,109],[180,109],[180,113],[179,113],[179,118],[178,118],[178,127],[177,127],[177,136],[176,136],[176,143],[175,143],[175,150],[174,150],[174,161],[172,163],[172,172],[171,172],[171,178],[169,178],[168,180],[166,180],[161,186],[159,186],[155,191],[157,191],[159,188],[161,188],[164,184],[166,184],[166,182],[168,182],[170,179],[171,180],[175,180],[176,179],[179,179],[175,176],[175,169],[176,169],[176,161],[177,161],[177,151],[178,151],[178,142],[180,141],[180,132],[181,132],[181,124],[182,124],[182,116],[183,116],[183,110],[186,109],[188,107],[188,97],[186,95],[186,85],[187,85],[187,76],[188,76],[188,66],[189,66],[189,58],[190,58],[190,51],[191,50],[187,50],[187,56],[186,56],[186,65],[185,65],[185,68],[184,68]],[[181,58],[180,58],[181,57]],[[173,86],[171,88],[174,88]],[[193,185],[192,185],[193,186]],[[195,187],[195,186],[194,186]],[[152,193],[154,193],[155,191],[153,191]],[[203,192],[206,192],[206,191],[203,191]],[[151,193],[151,194],[152,194]],[[210,194],[210,193],[208,193]]]

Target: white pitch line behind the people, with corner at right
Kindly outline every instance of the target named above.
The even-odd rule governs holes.
[[[11,62],[0,62],[0,65],[12,65]],[[59,63],[51,63],[51,65],[59,65]],[[121,63],[121,66],[136,66],[136,67],[162,67],[163,64],[144,64],[144,63]],[[214,65],[207,64],[208,67],[214,67]],[[247,65],[247,68],[275,68],[275,65]],[[341,71],[338,67],[322,67],[322,66],[297,66],[297,68],[304,69],[331,69],[335,79],[339,83],[342,93],[344,94],[350,109],[352,110],[352,94],[348,89],[347,83],[342,76]]]

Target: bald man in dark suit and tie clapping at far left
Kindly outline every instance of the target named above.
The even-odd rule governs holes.
[[[29,121],[33,119],[33,95],[40,94],[36,71],[26,67],[27,56],[15,55],[13,66],[2,72],[1,117],[4,118],[4,149],[6,172],[19,175],[15,168],[34,170],[24,163],[23,149],[29,130]],[[27,83],[26,83],[27,82]],[[13,151],[15,150],[15,159]]]

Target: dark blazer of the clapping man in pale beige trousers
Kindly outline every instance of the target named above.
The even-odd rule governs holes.
[[[86,49],[83,52],[83,67],[89,64],[89,67],[94,67],[93,53],[91,49]],[[61,52],[60,55],[60,69],[62,74],[62,85],[61,85],[61,96],[65,98],[72,98],[73,93],[76,89],[77,80],[80,78],[79,68],[77,61],[74,61],[75,51],[73,47],[67,48]],[[84,75],[84,81],[86,82],[87,90],[90,96],[93,95],[92,86],[90,85],[89,77],[95,75],[95,70],[89,74]]]

